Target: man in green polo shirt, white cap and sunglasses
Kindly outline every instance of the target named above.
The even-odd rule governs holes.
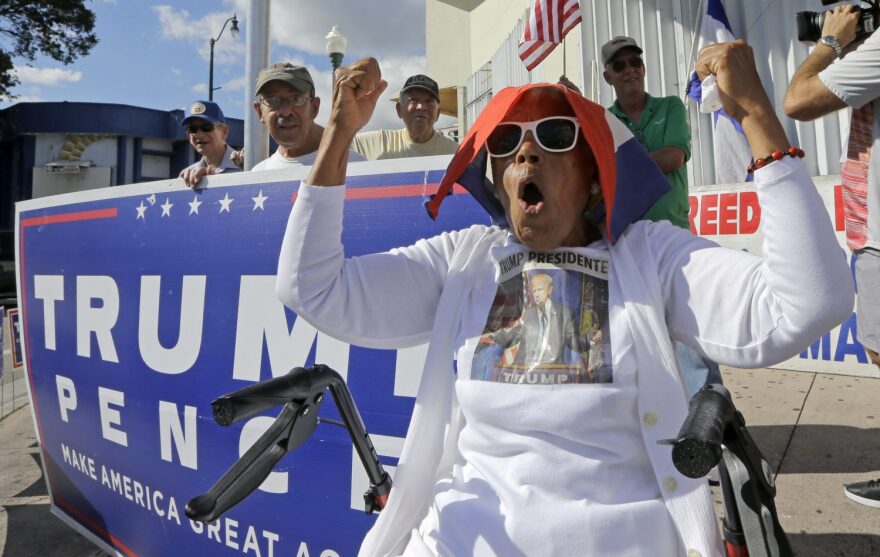
[[[630,37],[614,37],[602,47],[603,76],[617,96],[608,109],[645,146],[672,184],[672,191],[657,201],[645,218],[668,220],[690,229],[684,167],[691,157],[687,111],[678,97],[652,97],[645,92],[645,63],[641,54],[642,49]]]

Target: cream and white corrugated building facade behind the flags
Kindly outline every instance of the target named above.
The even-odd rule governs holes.
[[[644,49],[646,89],[654,96],[685,99],[693,137],[688,178],[692,186],[714,184],[711,115],[686,99],[693,71],[695,35],[705,0],[581,0],[583,22],[534,71],[516,47],[533,0],[427,0],[427,68],[442,85],[463,88],[459,126],[466,130],[492,94],[503,87],[555,82],[565,74],[592,100],[608,106],[614,91],[602,78],[602,45],[617,35]],[[795,13],[821,11],[819,0],[724,0],[734,34],[754,49],[764,87],[789,139],[807,152],[815,175],[839,173],[849,111],[801,123],[782,113],[788,83],[809,54],[798,42]]]

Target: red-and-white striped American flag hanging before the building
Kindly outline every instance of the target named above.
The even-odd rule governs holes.
[[[578,0],[535,0],[529,24],[519,41],[519,57],[531,71],[581,22]]]

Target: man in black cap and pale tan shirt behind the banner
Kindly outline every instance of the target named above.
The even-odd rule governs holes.
[[[397,101],[397,115],[404,127],[359,133],[352,142],[355,151],[367,160],[400,159],[430,155],[451,155],[458,144],[434,131],[440,118],[440,89],[426,75],[406,80]]]

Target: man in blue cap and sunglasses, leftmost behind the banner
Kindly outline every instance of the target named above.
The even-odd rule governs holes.
[[[241,171],[232,161],[235,150],[226,144],[229,126],[217,103],[195,101],[186,108],[186,117],[181,125],[193,149],[202,155],[201,160],[180,172],[188,187],[197,187],[208,174]]]

